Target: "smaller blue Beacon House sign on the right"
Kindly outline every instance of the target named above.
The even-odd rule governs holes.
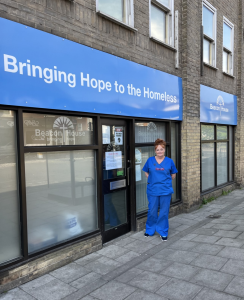
[[[237,125],[237,96],[201,85],[200,122]]]

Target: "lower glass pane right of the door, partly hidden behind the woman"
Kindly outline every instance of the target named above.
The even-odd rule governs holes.
[[[147,159],[154,156],[154,146],[150,147],[136,147],[135,149],[135,161],[136,161],[136,212],[140,213],[147,211],[147,178],[142,171]]]

